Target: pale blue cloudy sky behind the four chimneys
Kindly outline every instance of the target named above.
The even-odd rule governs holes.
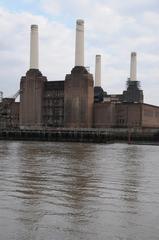
[[[85,66],[94,75],[102,56],[102,87],[119,94],[137,52],[144,101],[159,105],[159,0],[0,0],[0,91],[19,90],[29,70],[30,25],[39,26],[39,69],[48,81],[74,67],[75,25],[85,22]]]

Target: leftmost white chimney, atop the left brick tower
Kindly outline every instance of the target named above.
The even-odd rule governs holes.
[[[30,35],[30,69],[39,69],[38,25],[31,25],[31,35]]]

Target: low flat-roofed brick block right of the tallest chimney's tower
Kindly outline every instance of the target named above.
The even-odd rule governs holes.
[[[159,107],[145,103],[95,103],[94,127],[158,128]]]

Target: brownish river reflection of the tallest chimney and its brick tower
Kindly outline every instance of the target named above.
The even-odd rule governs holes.
[[[92,145],[85,145],[83,151],[83,144],[75,145],[71,149],[71,155],[66,158],[68,166],[66,174],[69,176],[69,181],[65,182],[67,191],[65,200],[72,215],[68,227],[71,239],[77,236],[80,239],[82,235],[86,237],[86,232],[90,236],[95,234],[86,228],[94,213],[94,209],[89,204],[92,198],[98,197],[98,188],[92,184],[96,179],[96,163],[91,148]]]

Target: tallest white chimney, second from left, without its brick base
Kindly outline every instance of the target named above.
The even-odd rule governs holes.
[[[76,21],[75,66],[84,66],[84,21]]]

